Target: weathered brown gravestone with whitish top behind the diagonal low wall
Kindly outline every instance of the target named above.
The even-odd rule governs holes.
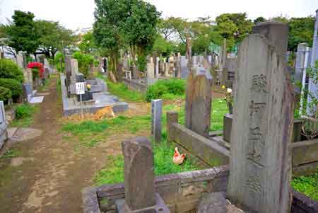
[[[208,137],[211,122],[211,75],[204,68],[194,68],[187,80],[186,127]]]

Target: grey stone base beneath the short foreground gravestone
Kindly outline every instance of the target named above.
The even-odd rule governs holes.
[[[148,207],[146,209],[139,209],[132,211],[129,209],[124,199],[116,200],[114,203],[118,213],[170,213],[170,210],[165,205],[163,198],[158,193],[155,194],[155,200],[157,205],[154,207]]]

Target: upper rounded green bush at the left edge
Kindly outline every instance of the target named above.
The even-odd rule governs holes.
[[[23,82],[23,71],[11,59],[0,59],[0,78]]]

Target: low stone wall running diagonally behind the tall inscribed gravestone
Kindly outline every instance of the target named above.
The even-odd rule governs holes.
[[[194,156],[204,161],[208,166],[228,164],[230,159],[230,143],[222,137],[205,138],[190,129],[179,125],[177,113],[167,113],[167,139],[176,142]],[[225,116],[226,125],[232,123],[229,116]],[[299,129],[300,122],[295,122],[295,129]],[[296,127],[297,126],[297,127]],[[230,126],[229,126],[230,127]],[[225,131],[226,132],[226,131]],[[227,130],[229,132],[229,130]],[[229,134],[229,133],[225,133]],[[225,138],[228,137],[224,136]],[[294,134],[294,140],[298,138]],[[318,166],[318,139],[293,142],[293,175],[312,175],[317,172]]]

